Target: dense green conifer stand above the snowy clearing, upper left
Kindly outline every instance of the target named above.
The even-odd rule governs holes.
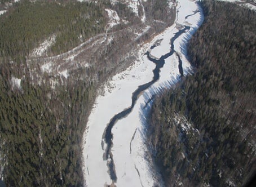
[[[51,54],[65,52],[104,30],[103,11],[96,3],[77,1],[15,3],[0,17],[0,56],[18,61],[49,35],[56,36]]]

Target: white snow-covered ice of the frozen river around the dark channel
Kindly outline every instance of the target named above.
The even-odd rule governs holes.
[[[139,51],[139,59],[130,68],[115,75],[105,85],[104,95],[97,97],[83,136],[85,143],[83,146],[83,171],[87,186],[113,184],[109,177],[107,161],[103,160],[106,148],[103,141],[104,130],[115,114],[131,105],[131,96],[136,88],[152,81],[152,70],[155,68],[155,64],[149,61],[144,53],[150,51],[150,47],[162,39],[160,45],[153,48],[150,53],[158,58],[167,54],[170,51],[170,39],[178,32],[177,25],[191,26],[188,32],[180,35],[174,42],[174,50],[183,61],[184,74],[188,73],[191,68],[186,58],[184,43],[202,23],[202,12],[195,2],[189,0],[178,1],[178,7],[180,8],[176,23],[167,28],[164,33],[157,35],[150,43],[144,44]],[[185,19],[187,15],[191,15],[197,10],[200,12]],[[140,95],[132,112],[114,125],[111,152],[117,175],[117,181],[114,184],[117,186],[161,185],[161,180],[148,162],[150,157],[145,145],[145,119],[142,110],[148,109],[144,106],[153,95],[179,81],[178,65],[178,56],[175,54],[167,58],[164,68],[161,69],[160,79]],[[151,103],[149,102],[149,106]]]

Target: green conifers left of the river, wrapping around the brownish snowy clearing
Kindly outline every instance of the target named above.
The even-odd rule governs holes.
[[[56,35],[48,52],[54,55],[77,46],[78,35],[85,40],[103,32],[100,6],[21,1],[0,17],[0,157],[7,186],[82,186],[81,132],[94,84],[80,70],[54,91],[47,81],[34,85],[26,59],[48,35]]]

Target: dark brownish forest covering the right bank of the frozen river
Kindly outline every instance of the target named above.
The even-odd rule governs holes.
[[[201,6],[205,21],[188,44],[194,74],[155,100],[151,148],[166,186],[242,186],[256,171],[256,12]]]

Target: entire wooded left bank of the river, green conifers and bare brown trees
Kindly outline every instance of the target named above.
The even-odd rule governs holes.
[[[175,15],[174,10],[162,10],[167,0],[157,2],[144,2],[147,15],[159,10],[160,17],[148,20]],[[0,16],[0,180],[7,186],[82,186],[82,135],[99,87],[120,66],[129,66],[134,57],[127,56],[138,44],[173,23],[175,16],[165,19],[166,24],[153,20],[152,30],[134,42],[134,33],[144,25],[122,3],[2,0],[0,10],[3,7],[7,11]],[[123,23],[107,30],[106,8],[117,11]],[[116,34],[111,42],[94,45],[97,38],[92,39],[89,47],[82,46],[86,50],[81,47],[79,58],[65,59],[63,54],[91,38],[104,39],[107,31]],[[52,36],[55,41],[45,54],[31,57]],[[58,68],[44,72],[43,65],[51,63],[67,70],[68,76],[60,75]]]

